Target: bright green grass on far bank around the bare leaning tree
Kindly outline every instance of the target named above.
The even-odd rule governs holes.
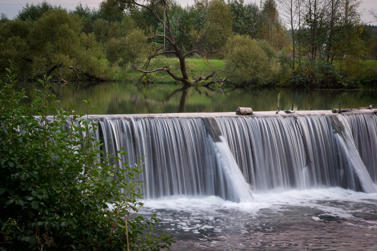
[[[207,76],[214,72],[215,79],[225,78],[224,64],[224,60],[221,59],[205,60],[201,58],[186,58],[186,70],[189,77],[192,79],[196,79],[199,76]],[[164,66],[169,67],[177,76],[182,76],[178,58],[159,57],[158,59],[153,59],[150,62],[148,69]],[[121,69],[115,65],[110,68],[108,78],[113,81],[136,82],[142,75],[143,73],[141,72],[131,71],[129,66],[125,69]],[[176,81],[165,71],[156,71],[154,73],[149,73],[144,78],[144,82],[153,84],[175,84]]]

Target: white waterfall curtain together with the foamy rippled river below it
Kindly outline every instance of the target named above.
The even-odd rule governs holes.
[[[129,153],[119,164],[145,156],[139,213],[157,214],[170,250],[375,251],[372,111],[93,119],[104,152]]]

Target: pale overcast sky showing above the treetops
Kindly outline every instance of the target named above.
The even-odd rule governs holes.
[[[22,9],[23,6],[26,5],[26,3],[40,3],[40,1],[36,0],[0,0],[0,13],[4,13],[9,19],[12,19],[15,17],[15,15],[18,14],[18,11]],[[67,9],[75,9],[77,6],[77,3],[80,1],[77,0],[49,0],[49,3],[52,5],[61,5],[64,8]],[[90,8],[98,8],[98,4],[102,2],[102,0],[81,0],[81,3],[83,6],[87,5]],[[185,0],[185,1],[178,1],[181,3],[182,6],[192,5],[194,3],[194,0]],[[256,2],[254,0],[248,1],[245,0],[244,2]],[[257,1],[259,4],[259,1]],[[364,22],[372,21],[372,17],[369,15],[368,11],[370,9],[377,9],[377,1],[376,0],[363,0],[363,2],[360,5],[359,11],[362,12],[362,20]],[[374,24],[377,24],[377,22],[374,22]]]

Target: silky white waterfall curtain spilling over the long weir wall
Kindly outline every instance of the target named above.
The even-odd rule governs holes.
[[[91,116],[104,152],[143,157],[146,199],[340,186],[376,192],[377,116],[326,111]],[[300,129],[300,130],[299,130]],[[301,134],[300,134],[301,131]],[[306,150],[306,151],[305,151]],[[251,191],[251,192],[250,192]]]

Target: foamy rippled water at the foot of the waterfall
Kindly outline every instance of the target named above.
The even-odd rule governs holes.
[[[340,188],[145,201],[170,230],[171,250],[377,250],[377,194]]]

